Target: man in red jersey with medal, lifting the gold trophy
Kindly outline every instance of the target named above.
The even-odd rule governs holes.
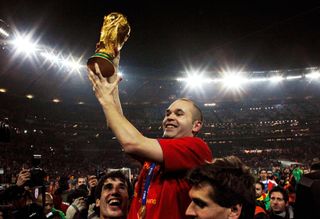
[[[116,69],[119,57],[114,60]],[[107,124],[124,151],[143,162],[135,186],[128,218],[189,218],[188,170],[212,160],[208,145],[195,137],[202,127],[202,113],[189,99],[178,99],[166,110],[162,122],[163,138],[143,136],[122,114],[117,74],[111,78],[88,70],[93,90]]]

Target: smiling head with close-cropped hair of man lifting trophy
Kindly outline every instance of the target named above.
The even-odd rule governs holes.
[[[163,137],[180,138],[195,136],[202,127],[200,108],[186,98],[174,101],[166,110],[162,121]]]

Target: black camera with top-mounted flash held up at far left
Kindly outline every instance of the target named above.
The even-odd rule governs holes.
[[[31,177],[27,184],[30,187],[44,186],[46,173],[42,168],[40,168],[40,162],[41,155],[34,154],[31,161],[32,167],[30,168]]]

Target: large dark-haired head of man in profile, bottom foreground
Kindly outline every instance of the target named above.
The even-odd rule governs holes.
[[[199,166],[188,174],[192,187],[186,215],[199,219],[253,218],[254,177],[239,158],[229,156]]]

